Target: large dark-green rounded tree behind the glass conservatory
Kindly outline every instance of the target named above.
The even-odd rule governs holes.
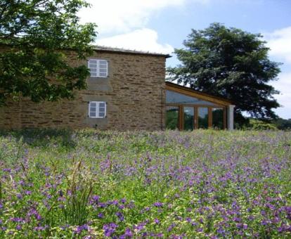
[[[243,121],[243,112],[261,119],[275,118],[279,106],[268,83],[280,72],[279,63],[268,58],[269,49],[261,34],[213,23],[205,30],[192,30],[175,49],[181,61],[167,69],[169,79],[191,88],[223,96],[235,103],[235,118]]]

